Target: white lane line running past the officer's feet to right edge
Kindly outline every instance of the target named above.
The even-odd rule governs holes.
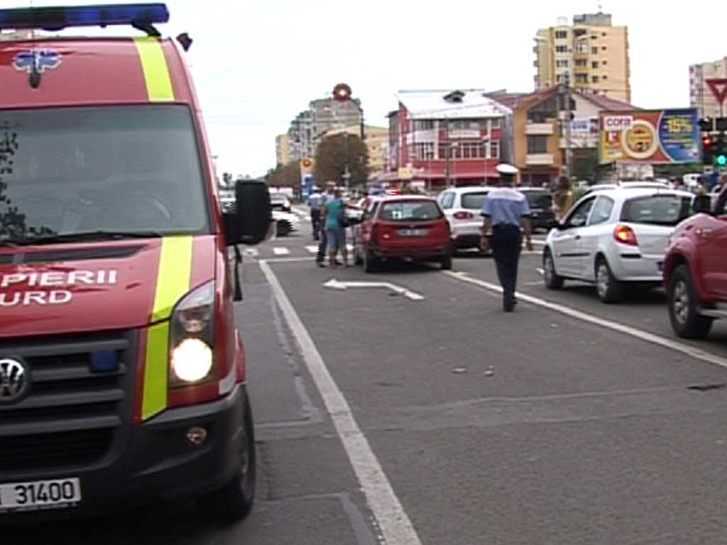
[[[485,282],[483,280],[477,280],[476,278],[470,278],[467,276],[467,273],[455,273],[449,270],[445,270],[442,272],[450,276],[451,278],[455,278],[462,282],[474,284],[475,286],[486,288],[489,291],[497,291],[499,293],[502,293],[502,288],[500,286],[497,286],[493,283]],[[657,344],[660,347],[674,350],[675,352],[681,352],[682,354],[691,356],[691,358],[695,358],[696,360],[702,360],[707,363],[712,363],[712,365],[715,366],[727,368],[726,358],[720,358],[720,356],[718,355],[710,354],[710,352],[705,352],[704,350],[699,350],[699,348],[691,347],[688,344],[672,341],[672,339],[667,339],[666,337],[655,335],[653,333],[649,333],[648,331],[643,331],[632,326],[627,326],[623,323],[613,322],[611,320],[606,320],[603,318],[597,318],[593,315],[581,312],[580,310],[575,310],[571,307],[564,307],[562,304],[552,303],[550,301],[546,301],[545,299],[539,299],[539,297],[523,294],[519,291],[517,293],[517,296],[518,299],[521,301],[536,304],[539,307],[547,308],[548,310],[553,310],[554,312],[559,312],[563,315],[570,316],[571,318],[576,318],[577,320],[581,320],[583,322],[593,323],[595,326],[608,328],[612,331],[617,331],[619,333],[635,337],[636,339],[650,342],[651,344]]]

